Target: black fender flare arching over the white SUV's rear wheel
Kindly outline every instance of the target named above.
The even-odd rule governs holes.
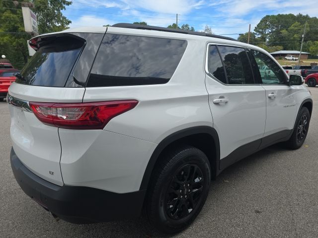
[[[211,126],[194,126],[194,127],[189,127],[186,129],[182,129],[179,131],[176,131],[167,137],[165,137],[156,147],[154,150],[152,156],[150,157],[150,160],[148,162],[147,168],[144,173],[144,177],[142,179],[141,185],[140,185],[140,190],[147,189],[148,183],[151,179],[151,175],[153,173],[155,164],[159,158],[160,153],[171,143],[174,141],[181,139],[183,137],[189,136],[189,135],[195,135],[195,134],[209,134],[212,136],[214,139],[214,143],[216,146],[216,163],[217,167],[216,169],[219,169],[219,163],[220,163],[220,141],[219,141],[219,136],[217,131],[211,127]]]

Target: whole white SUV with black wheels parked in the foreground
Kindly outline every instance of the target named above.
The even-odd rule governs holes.
[[[65,221],[144,210],[159,230],[179,232],[226,167],[306,139],[309,90],[258,47],[123,23],[30,45],[37,52],[7,96],[11,166],[24,192]]]

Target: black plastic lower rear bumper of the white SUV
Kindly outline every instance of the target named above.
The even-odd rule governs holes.
[[[11,168],[22,190],[57,217],[72,223],[96,223],[141,215],[146,190],[114,193],[84,186],[58,186],[29,171],[10,153]]]

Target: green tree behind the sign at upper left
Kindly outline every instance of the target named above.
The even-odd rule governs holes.
[[[31,35],[24,31],[21,2],[0,1],[0,54],[5,55],[14,67],[22,68],[29,58],[27,40]],[[61,31],[71,23],[62,14],[67,0],[33,0],[32,10],[37,15],[39,33]]]

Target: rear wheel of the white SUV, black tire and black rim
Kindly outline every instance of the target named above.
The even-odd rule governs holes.
[[[159,231],[173,234],[187,228],[200,213],[209,193],[210,164],[192,146],[178,147],[159,159],[147,193],[146,214]]]

